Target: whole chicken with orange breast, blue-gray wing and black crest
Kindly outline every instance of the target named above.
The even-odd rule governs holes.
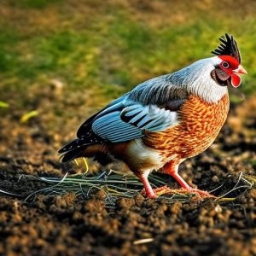
[[[59,150],[62,162],[95,157],[100,163],[121,160],[141,179],[148,198],[148,174],[164,172],[189,193],[193,189],[178,174],[186,159],[201,154],[218,136],[230,108],[228,85],[241,84],[246,74],[235,38],[228,34],[212,57],[175,73],[149,79],[87,119],[77,138]]]

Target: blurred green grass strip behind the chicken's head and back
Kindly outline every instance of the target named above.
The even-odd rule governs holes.
[[[0,91],[4,88],[6,92],[10,87],[26,91],[31,84],[57,77],[68,84],[70,91],[99,90],[113,98],[145,79],[210,56],[218,45],[218,37],[231,32],[238,40],[243,66],[249,73],[243,78],[241,91],[247,95],[255,93],[253,15],[243,19],[241,14],[218,13],[218,7],[201,11],[192,6],[182,14],[189,19],[177,22],[170,18],[172,9],[160,9],[157,16],[166,15],[167,11],[170,17],[166,15],[166,19],[171,19],[167,26],[162,26],[147,22],[151,12],[156,16],[154,9],[133,9],[132,13],[131,7],[99,1],[11,3],[4,5],[10,10],[9,16],[0,20]],[[76,3],[75,8],[71,8],[72,3]],[[80,9],[84,14],[79,13]],[[45,26],[49,14],[56,20]],[[23,21],[15,15],[23,17]],[[38,21],[28,22],[26,15]],[[8,100],[8,94],[2,95],[4,101]]]

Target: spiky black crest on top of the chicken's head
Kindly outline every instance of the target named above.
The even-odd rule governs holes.
[[[225,37],[222,36],[219,38],[221,44],[218,45],[218,48],[212,50],[213,55],[230,55],[234,57],[239,64],[241,64],[241,55],[236,44],[236,39],[233,36],[225,34]]]

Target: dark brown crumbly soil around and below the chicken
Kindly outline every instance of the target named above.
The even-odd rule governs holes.
[[[255,98],[231,108],[217,142],[180,167],[189,183],[208,191],[224,183],[213,192],[223,195],[234,187],[240,172],[255,176],[255,110]],[[138,194],[106,207],[101,192],[89,199],[38,192],[24,202],[27,195],[46,186],[38,177],[81,170],[73,163],[61,164],[56,155],[67,137],[57,136],[57,128],[45,129],[44,117],[20,124],[19,114],[5,111],[0,119],[0,189],[16,194],[0,193],[0,255],[256,254],[255,189],[230,193],[229,197],[236,197],[230,202],[167,204]],[[90,163],[92,171],[104,168],[108,167]],[[178,188],[171,177],[167,180]]]

